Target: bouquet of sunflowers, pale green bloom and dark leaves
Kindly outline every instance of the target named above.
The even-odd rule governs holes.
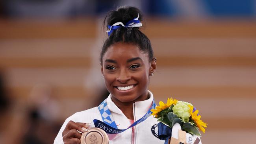
[[[150,111],[153,112],[151,115],[158,118],[158,121],[168,127],[172,128],[174,124],[178,122],[182,127],[182,130],[191,135],[201,137],[199,129],[204,133],[204,127],[207,127],[207,124],[200,120],[201,116],[198,115],[198,110],[188,102],[168,98],[167,103],[160,101],[159,106]]]

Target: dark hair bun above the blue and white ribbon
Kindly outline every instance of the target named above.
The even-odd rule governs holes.
[[[139,9],[136,7],[128,7],[128,6],[121,6],[118,7],[117,10],[109,11],[109,13],[106,15],[106,26],[112,26],[116,22],[122,22],[123,24],[126,24],[128,21],[138,17],[139,14],[139,20],[143,20],[143,15]],[[104,20],[104,24],[105,24]]]

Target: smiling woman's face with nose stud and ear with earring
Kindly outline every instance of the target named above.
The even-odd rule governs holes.
[[[113,44],[102,58],[102,74],[114,102],[146,100],[149,76],[155,68],[155,61],[149,62],[148,54],[134,44]]]

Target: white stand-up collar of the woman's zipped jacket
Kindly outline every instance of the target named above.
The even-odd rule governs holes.
[[[134,118],[135,118],[135,120],[138,120],[139,118],[144,116],[147,113],[148,109],[152,105],[154,97],[153,97],[152,92],[150,92],[149,90],[148,90],[148,93],[150,95],[149,99],[134,103]],[[121,109],[119,109],[117,107],[117,105],[115,105],[115,103],[111,100],[111,94],[109,94],[109,96],[107,98],[107,104],[108,104],[109,110],[112,113],[122,114]]]

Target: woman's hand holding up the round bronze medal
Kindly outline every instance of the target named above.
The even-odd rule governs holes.
[[[88,127],[88,123],[73,122],[72,120],[70,120],[67,123],[64,131],[62,132],[64,144],[80,144],[80,132],[83,133],[85,131],[88,131]]]

